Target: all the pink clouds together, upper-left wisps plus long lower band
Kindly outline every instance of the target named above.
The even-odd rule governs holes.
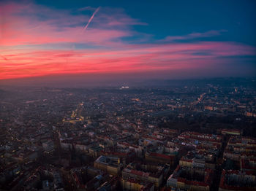
[[[90,15],[72,15],[66,10],[56,12],[34,4],[0,4],[0,7],[3,10],[0,13],[0,79],[214,68],[217,62],[225,64],[222,57],[255,55],[254,47],[232,42],[173,42],[220,35],[224,31],[169,36],[165,44],[129,44],[121,40],[137,33],[129,26],[145,23],[121,10],[110,12],[109,8],[102,7],[88,30],[83,31]],[[46,15],[46,19],[38,12]],[[48,44],[55,48],[49,48]],[[74,44],[83,48],[76,50],[72,48]]]

